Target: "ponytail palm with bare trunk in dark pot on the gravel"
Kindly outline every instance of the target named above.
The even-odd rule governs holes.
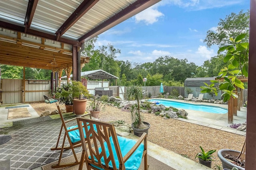
[[[142,121],[142,115],[140,115],[140,100],[143,97],[142,88],[138,85],[134,85],[128,88],[126,94],[129,99],[136,100],[136,104],[131,106],[130,113],[134,135],[140,137],[142,133],[148,133],[148,129],[150,128],[150,124]]]

